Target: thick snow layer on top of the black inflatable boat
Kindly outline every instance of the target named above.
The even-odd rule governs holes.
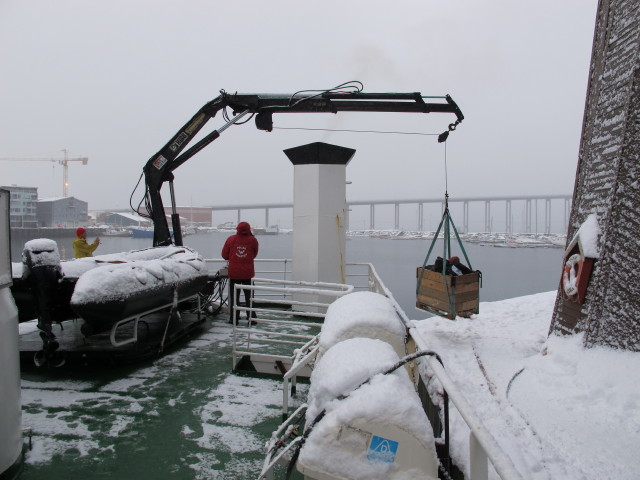
[[[126,259],[127,263],[104,263],[104,266],[82,274],[75,285],[71,303],[81,305],[123,300],[135,293],[180,285],[207,275],[205,261],[198,253],[187,247],[167,248],[169,252],[159,258],[161,252],[147,250],[130,252],[133,255],[114,254],[114,261]],[[144,259],[149,256],[155,258]]]

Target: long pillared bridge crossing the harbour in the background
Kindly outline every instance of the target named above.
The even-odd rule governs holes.
[[[565,233],[571,195],[450,197],[449,211],[459,232]],[[349,230],[433,231],[444,212],[444,199],[348,200]],[[272,224],[274,210],[291,209],[291,203],[216,205],[214,212],[235,212],[235,221],[249,211],[263,211],[264,225]],[[259,215],[259,214],[258,214]],[[280,214],[279,214],[280,215]],[[219,216],[214,213],[214,218]],[[216,222],[214,220],[214,222]],[[216,222],[219,223],[219,222]],[[255,223],[255,221],[254,221]],[[259,223],[259,222],[258,222]],[[384,226],[383,226],[384,225]],[[361,227],[360,227],[361,226]]]

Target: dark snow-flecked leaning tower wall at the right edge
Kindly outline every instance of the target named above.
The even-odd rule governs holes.
[[[640,350],[640,2],[598,5],[570,242],[590,214],[602,232],[584,304],[556,297],[551,332]]]

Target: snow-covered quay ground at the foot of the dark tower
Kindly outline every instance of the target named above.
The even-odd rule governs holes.
[[[486,302],[471,319],[414,323],[523,478],[635,480],[640,354],[586,349],[582,334],[547,338],[555,298]],[[468,475],[469,429],[453,405],[450,414],[451,453]],[[498,478],[491,468],[489,478]]]

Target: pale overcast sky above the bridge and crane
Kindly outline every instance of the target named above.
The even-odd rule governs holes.
[[[293,93],[349,80],[367,92],[450,94],[465,120],[447,144],[448,189],[573,189],[596,0],[0,0],[0,157],[62,158],[70,195],[128,205],[142,167],[220,89]],[[220,116],[208,129],[222,125]],[[448,114],[274,116],[280,127],[440,133]],[[283,149],[357,150],[348,198],[439,197],[435,137],[223,133],[176,170],[181,205],[290,202]],[[62,167],[0,162],[0,184],[62,193]],[[138,189],[135,203],[143,190]]]

